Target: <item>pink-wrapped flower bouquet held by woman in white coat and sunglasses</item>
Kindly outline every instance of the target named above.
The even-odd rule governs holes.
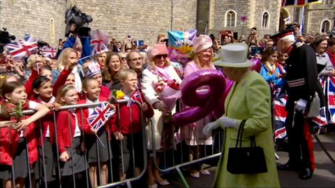
[[[181,97],[181,91],[179,89],[179,83],[175,79],[159,80],[153,83],[154,90],[158,93],[161,101],[170,110],[176,105],[176,101]]]

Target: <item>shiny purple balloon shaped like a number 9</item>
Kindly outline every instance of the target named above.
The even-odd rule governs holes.
[[[207,86],[208,90],[197,91],[203,86]],[[181,82],[181,100],[188,108],[174,113],[173,123],[186,125],[206,117],[218,107],[225,86],[225,77],[218,70],[199,70],[188,75]]]

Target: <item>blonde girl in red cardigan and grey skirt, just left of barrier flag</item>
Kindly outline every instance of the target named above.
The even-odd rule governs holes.
[[[59,88],[56,102],[61,105],[77,104],[78,94],[75,86],[65,85]],[[61,161],[61,186],[86,187],[84,171],[86,170],[84,142],[75,109],[62,110],[57,113],[57,139],[59,160]],[[73,180],[75,174],[75,182]]]

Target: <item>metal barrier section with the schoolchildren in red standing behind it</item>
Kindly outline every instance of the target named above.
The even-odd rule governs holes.
[[[118,104],[124,104],[124,103],[127,103],[128,102],[128,100],[118,100],[117,101],[117,103]],[[68,112],[69,112],[69,110],[70,109],[81,109],[80,110],[80,112],[81,112],[81,116],[80,117],[77,117],[77,118],[83,118],[83,108],[89,108],[89,107],[97,107],[99,104],[101,104],[101,103],[104,103],[104,102],[96,102],[96,103],[89,103],[89,104],[75,104],[75,105],[68,105],[68,106],[64,106],[64,107],[61,107],[60,109],[59,109],[59,111],[60,110],[67,110]],[[137,102],[137,101],[135,101],[135,103],[136,104],[138,104],[138,105],[140,105],[140,102]],[[140,105],[140,107],[141,107],[141,105]],[[131,109],[130,109],[131,110]],[[56,122],[56,113],[57,113],[57,111],[55,111],[55,110],[53,110],[54,112],[53,112],[53,121],[54,121],[54,134],[55,135],[57,135],[58,133],[57,133],[57,122]],[[23,113],[24,113],[24,115],[29,115],[29,114],[33,114],[34,113],[34,110],[25,110],[25,111],[23,111]],[[116,112],[115,113],[118,113],[118,115],[120,115],[120,111],[119,111],[119,108],[117,108],[116,109]],[[131,114],[131,113],[130,113]],[[68,116],[69,117],[69,116]],[[120,116],[118,116],[118,118],[120,118]],[[118,119],[118,121],[119,121],[119,119]],[[131,118],[131,122],[132,122],[132,118]],[[114,180],[114,178],[113,178],[113,176],[115,176],[115,175],[113,175],[113,168],[114,168],[114,166],[116,165],[116,166],[118,166],[119,165],[119,160],[118,160],[118,164],[112,164],[112,159],[110,159],[109,160],[109,171],[108,171],[108,184],[107,185],[101,185],[101,177],[100,177],[100,174],[101,174],[101,169],[100,169],[100,164],[101,164],[101,162],[100,162],[100,159],[99,159],[99,157],[98,157],[98,174],[97,174],[97,178],[98,178],[98,185],[101,185],[100,187],[114,187],[114,186],[117,186],[117,185],[124,185],[124,184],[126,184],[128,187],[131,187],[131,182],[133,182],[133,181],[135,181],[135,180],[139,180],[140,178],[142,178],[142,176],[144,175],[144,173],[145,173],[145,171],[147,171],[147,139],[146,139],[146,134],[145,134],[145,126],[146,126],[146,123],[145,123],[145,120],[144,120],[144,116],[143,116],[143,112],[142,112],[142,110],[141,110],[141,122],[142,122],[142,148],[143,148],[143,154],[144,154],[144,156],[143,156],[143,159],[144,159],[144,162],[143,162],[143,169],[142,169],[142,171],[141,171],[141,173],[140,173],[140,175],[139,176],[137,176],[137,177],[135,177],[135,153],[134,153],[134,144],[133,144],[133,129],[131,129],[131,132],[132,132],[132,134],[131,134],[131,137],[132,137],[132,143],[131,143],[131,146],[132,146],[132,153],[133,153],[133,156],[132,156],[132,158],[133,158],[133,176],[134,177],[131,177],[131,178],[126,178],[125,180]],[[36,122],[37,123],[37,122]],[[38,124],[36,124],[36,125],[38,125]],[[42,130],[42,122],[41,121],[39,121],[39,133],[40,133],[40,135],[42,135],[43,134],[43,130]],[[68,118],[68,125],[69,125],[69,131],[71,131],[70,130],[70,118]],[[80,125],[80,126],[83,126],[83,125]],[[119,128],[121,128],[121,127],[119,127]],[[120,132],[121,132],[121,130],[120,130]],[[113,135],[112,135],[112,133],[110,133],[110,130],[108,129],[108,132],[107,132],[107,134],[108,135],[110,135],[110,136],[107,136],[107,149],[108,149],[108,153],[109,153],[109,156],[111,156],[112,155],[112,157],[114,158],[114,157],[117,157],[117,158],[119,158],[119,155],[113,155],[113,153],[112,153],[112,147],[111,147],[111,142],[108,140],[109,139],[109,137],[112,137]],[[71,134],[71,132],[70,132],[70,135],[72,135]],[[86,136],[85,134],[84,134],[84,132],[82,132],[82,136],[83,136],[83,139],[84,139],[84,136]],[[40,136],[40,138],[42,139],[43,138],[43,136]],[[116,139],[114,139],[113,141],[115,141]],[[11,142],[11,141],[10,141]],[[43,141],[38,141],[38,142],[40,142],[41,143],[41,148],[42,148],[42,158],[43,158],[43,176],[44,177],[42,177],[42,180],[43,180],[43,178],[45,178],[44,179],[44,181],[43,181],[43,185],[39,185],[39,186],[41,186],[41,187],[48,187],[48,185],[47,185],[47,182],[48,182],[48,180],[46,180],[46,178],[47,178],[47,174],[46,174],[46,171],[47,171],[47,169],[46,169],[46,166],[45,166],[45,146],[44,146],[44,143],[43,143]],[[57,164],[56,164],[56,166],[57,166],[57,181],[56,182],[58,182],[59,183],[59,185],[52,185],[52,186],[50,186],[50,187],[61,187],[61,180],[62,180],[62,177],[61,177],[61,169],[60,169],[60,161],[59,161],[59,155],[60,155],[60,153],[59,153],[59,141],[58,141],[58,139],[57,139],[57,136],[55,136],[55,145],[56,145],[56,159],[57,159]],[[97,141],[97,145],[99,144],[99,142]],[[119,141],[119,144],[120,144],[120,148],[121,148],[121,164],[122,164],[122,172],[123,173],[126,173],[125,172],[125,169],[124,169],[124,161],[123,161],[123,154],[122,154],[122,150],[123,150],[123,148],[122,148],[122,140],[121,141]],[[29,150],[28,150],[28,146],[27,146],[28,144],[26,143],[26,155],[27,155],[27,164],[29,164]],[[39,146],[38,146],[39,147]],[[72,147],[72,143],[71,143],[71,147]],[[97,148],[97,156],[99,156],[99,151],[98,151],[98,147],[96,147]],[[72,150],[72,149],[70,149],[70,150]],[[91,187],[91,185],[90,185],[90,180],[89,180],[89,164],[87,163],[87,153],[85,152],[84,153],[84,157],[85,157],[85,171],[84,171],[84,173],[85,173],[85,175],[86,175],[86,187]],[[39,158],[39,157],[38,157]],[[72,162],[73,162],[73,160],[72,160]],[[129,167],[130,167],[130,165],[131,165],[131,162],[129,163]],[[73,166],[73,165],[72,165]],[[22,168],[24,168],[24,166],[22,166]],[[29,167],[29,165],[28,166],[26,166],[26,168],[27,168],[27,170],[28,170],[28,175],[29,175],[29,180],[27,180],[26,182],[28,182],[29,183],[29,186],[27,186],[27,183],[26,183],[26,187],[36,187],[36,183],[35,183],[35,181],[34,181],[34,179],[33,179],[33,172],[32,172],[32,170],[34,170],[34,169],[31,169],[30,167]],[[72,167],[73,168],[73,167]],[[131,169],[131,168],[129,168],[129,169]],[[74,172],[74,169],[72,169],[72,171]],[[115,171],[115,170],[114,170]],[[118,173],[119,173],[119,168],[117,168],[117,171],[118,171]],[[119,175],[119,174],[118,174]],[[13,165],[12,165],[12,180],[13,180],[13,186],[15,187],[15,170],[14,170],[14,168],[13,168]],[[75,177],[75,173],[73,173],[73,175],[72,175],[72,178],[73,178],[73,187],[76,187],[76,177]]]

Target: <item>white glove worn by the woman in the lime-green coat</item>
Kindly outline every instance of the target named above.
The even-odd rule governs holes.
[[[221,118],[218,118],[216,121],[208,123],[204,126],[204,129],[202,130],[202,133],[211,136],[211,131],[216,130],[219,126],[221,127],[238,127],[238,121],[232,118],[229,118],[227,116],[223,116]]]

